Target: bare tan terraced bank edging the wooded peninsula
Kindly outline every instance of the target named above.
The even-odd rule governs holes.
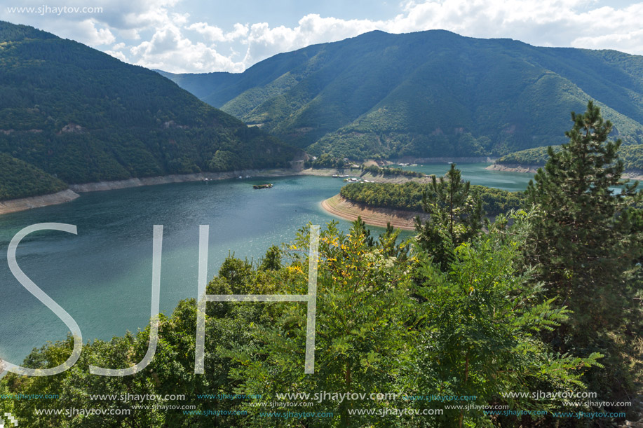
[[[356,221],[360,216],[367,225],[380,228],[386,228],[386,223],[390,222],[394,228],[415,230],[415,217],[417,215],[420,215],[422,219],[426,217],[426,214],[400,209],[366,208],[342,198],[339,194],[322,201],[320,205],[327,213],[340,219]]]

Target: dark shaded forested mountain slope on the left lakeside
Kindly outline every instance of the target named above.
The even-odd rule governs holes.
[[[8,22],[0,94],[0,153],[67,184],[285,166],[297,152],[154,71]],[[15,193],[1,179],[0,198]]]

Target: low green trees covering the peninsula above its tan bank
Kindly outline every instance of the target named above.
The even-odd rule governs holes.
[[[339,194],[348,200],[371,207],[421,212],[422,192],[425,190],[429,191],[427,184],[414,181],[401,184],[351,183],[342,187]],[[472,185],[471,190],[475,198],[482,200],[482,208],[489,216],[520,208],[526,200],[522,192],[503,191],[478,185]]]

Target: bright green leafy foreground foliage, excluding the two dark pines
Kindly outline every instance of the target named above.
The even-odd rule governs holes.
[[[8,374],[3,394],[59,394],[53,400],[4,400],[22,427],[484,427],[511,426],[511,417],[482,410],[452,410],[437,401],[401,397],[373,400],[372,393],[475,395],[479,409],[508,403],[551,410],[557,402],[503,399],[505,392],[569,392],[584,389],[583,373],[600,367],[600,354],[560,355],[539,339],[569,316],[543,299],[543,288],[521,271],[522,244],[530,228],[524,212],[502,217],[454,249],[446,269],[411,242],[398,242],[390,226],[377,239],[363,221],[348,233],[337,222],[320,233],[315,373],[304,375],[306,305],[295,302],[208,303],[205,313],[205,373],[194,374],[196,301],[181,301],[170,317],[159,317],[159,342],[151,364],[135,375],[90,375],[89,364],[123,368],[147,352],[149,328],[83,347],[79,362],[59,375]],[[254,268],[229,255],[208,294],[306,294],[309,287],[309,228],[281,249],[282,263]],[[284,261],[286,261],[284,263]],[[73,339],[34,350],[25,366],[51,367],[65,361]],[[262,412],[300,411],[280,393],[357,393],[365,399],[308,399],[306,412],[332,417],[265,417]],[[158,394],[143,403],[90,394]],[[173,401],[165,394],[184,394]],[[203,394],[210,394],[209,398]],[[261,394],[260,398],[214,399],[215,394]],[[312,397],[312,395],[311,395]],[[266,405],[264,403],[273,403]],[[188,412],[161,406],[194,406]],[[140,408],[139,406],[143,406]],[[35,409],[131,410],[121,415],[36,415]],[[348,410],[440,408],[439,417],[351,415]],[[191,413],[195,412],[195,413]],[[197,412],[219,412],[211,417]],[[514,423],[515,425],[515,423]]]

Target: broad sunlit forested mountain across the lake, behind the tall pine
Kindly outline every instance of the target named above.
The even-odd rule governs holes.
[[[242,74],[163,74],[313,155],[502,155],[561,144],[569,111],[588,99],[624,144],[643,142],[643,57],[614,50],[370,32]]]

